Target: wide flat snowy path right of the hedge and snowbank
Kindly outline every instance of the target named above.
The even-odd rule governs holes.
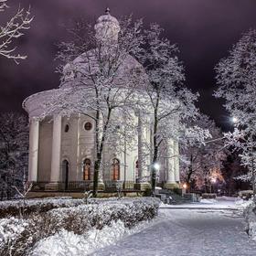
[[[91,255],[256,255],[240,211],[162,208],[155,225]]]

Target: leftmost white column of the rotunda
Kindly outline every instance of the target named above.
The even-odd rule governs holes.
[[[37,162],[39,145],[39,122],[31,119],[29,123],[28,181],[37,181]]]

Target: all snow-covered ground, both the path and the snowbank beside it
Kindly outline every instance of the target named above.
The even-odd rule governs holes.
[[[101,204],[105,203],[102,200]],[[114,200],[107,203],[111,207]],[[39,240],[29,255],[254,256],[256,241],[250,240],[245,232],[242,215],[249,204],[230,197],[178,206],[162,204],[157,218],[142,221],[132,229],[125,227],[122,220],[112,221],[102,229],[92,228],[80,235],[61,229]],[[64,211],[61,208],[52,211],[58,210]]]

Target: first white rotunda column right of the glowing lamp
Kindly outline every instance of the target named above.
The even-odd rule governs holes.
[[[167,184],[174,184],[176,183],[176,177],[175,177],[175,145],[173,140],[168,140],[167,142],[167,148],[166,148],[166,183]]]

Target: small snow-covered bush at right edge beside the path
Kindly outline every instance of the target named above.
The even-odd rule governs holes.
[[[256,204],[251,204],[245,208],[246,231],[252,240],[256,240]]]

